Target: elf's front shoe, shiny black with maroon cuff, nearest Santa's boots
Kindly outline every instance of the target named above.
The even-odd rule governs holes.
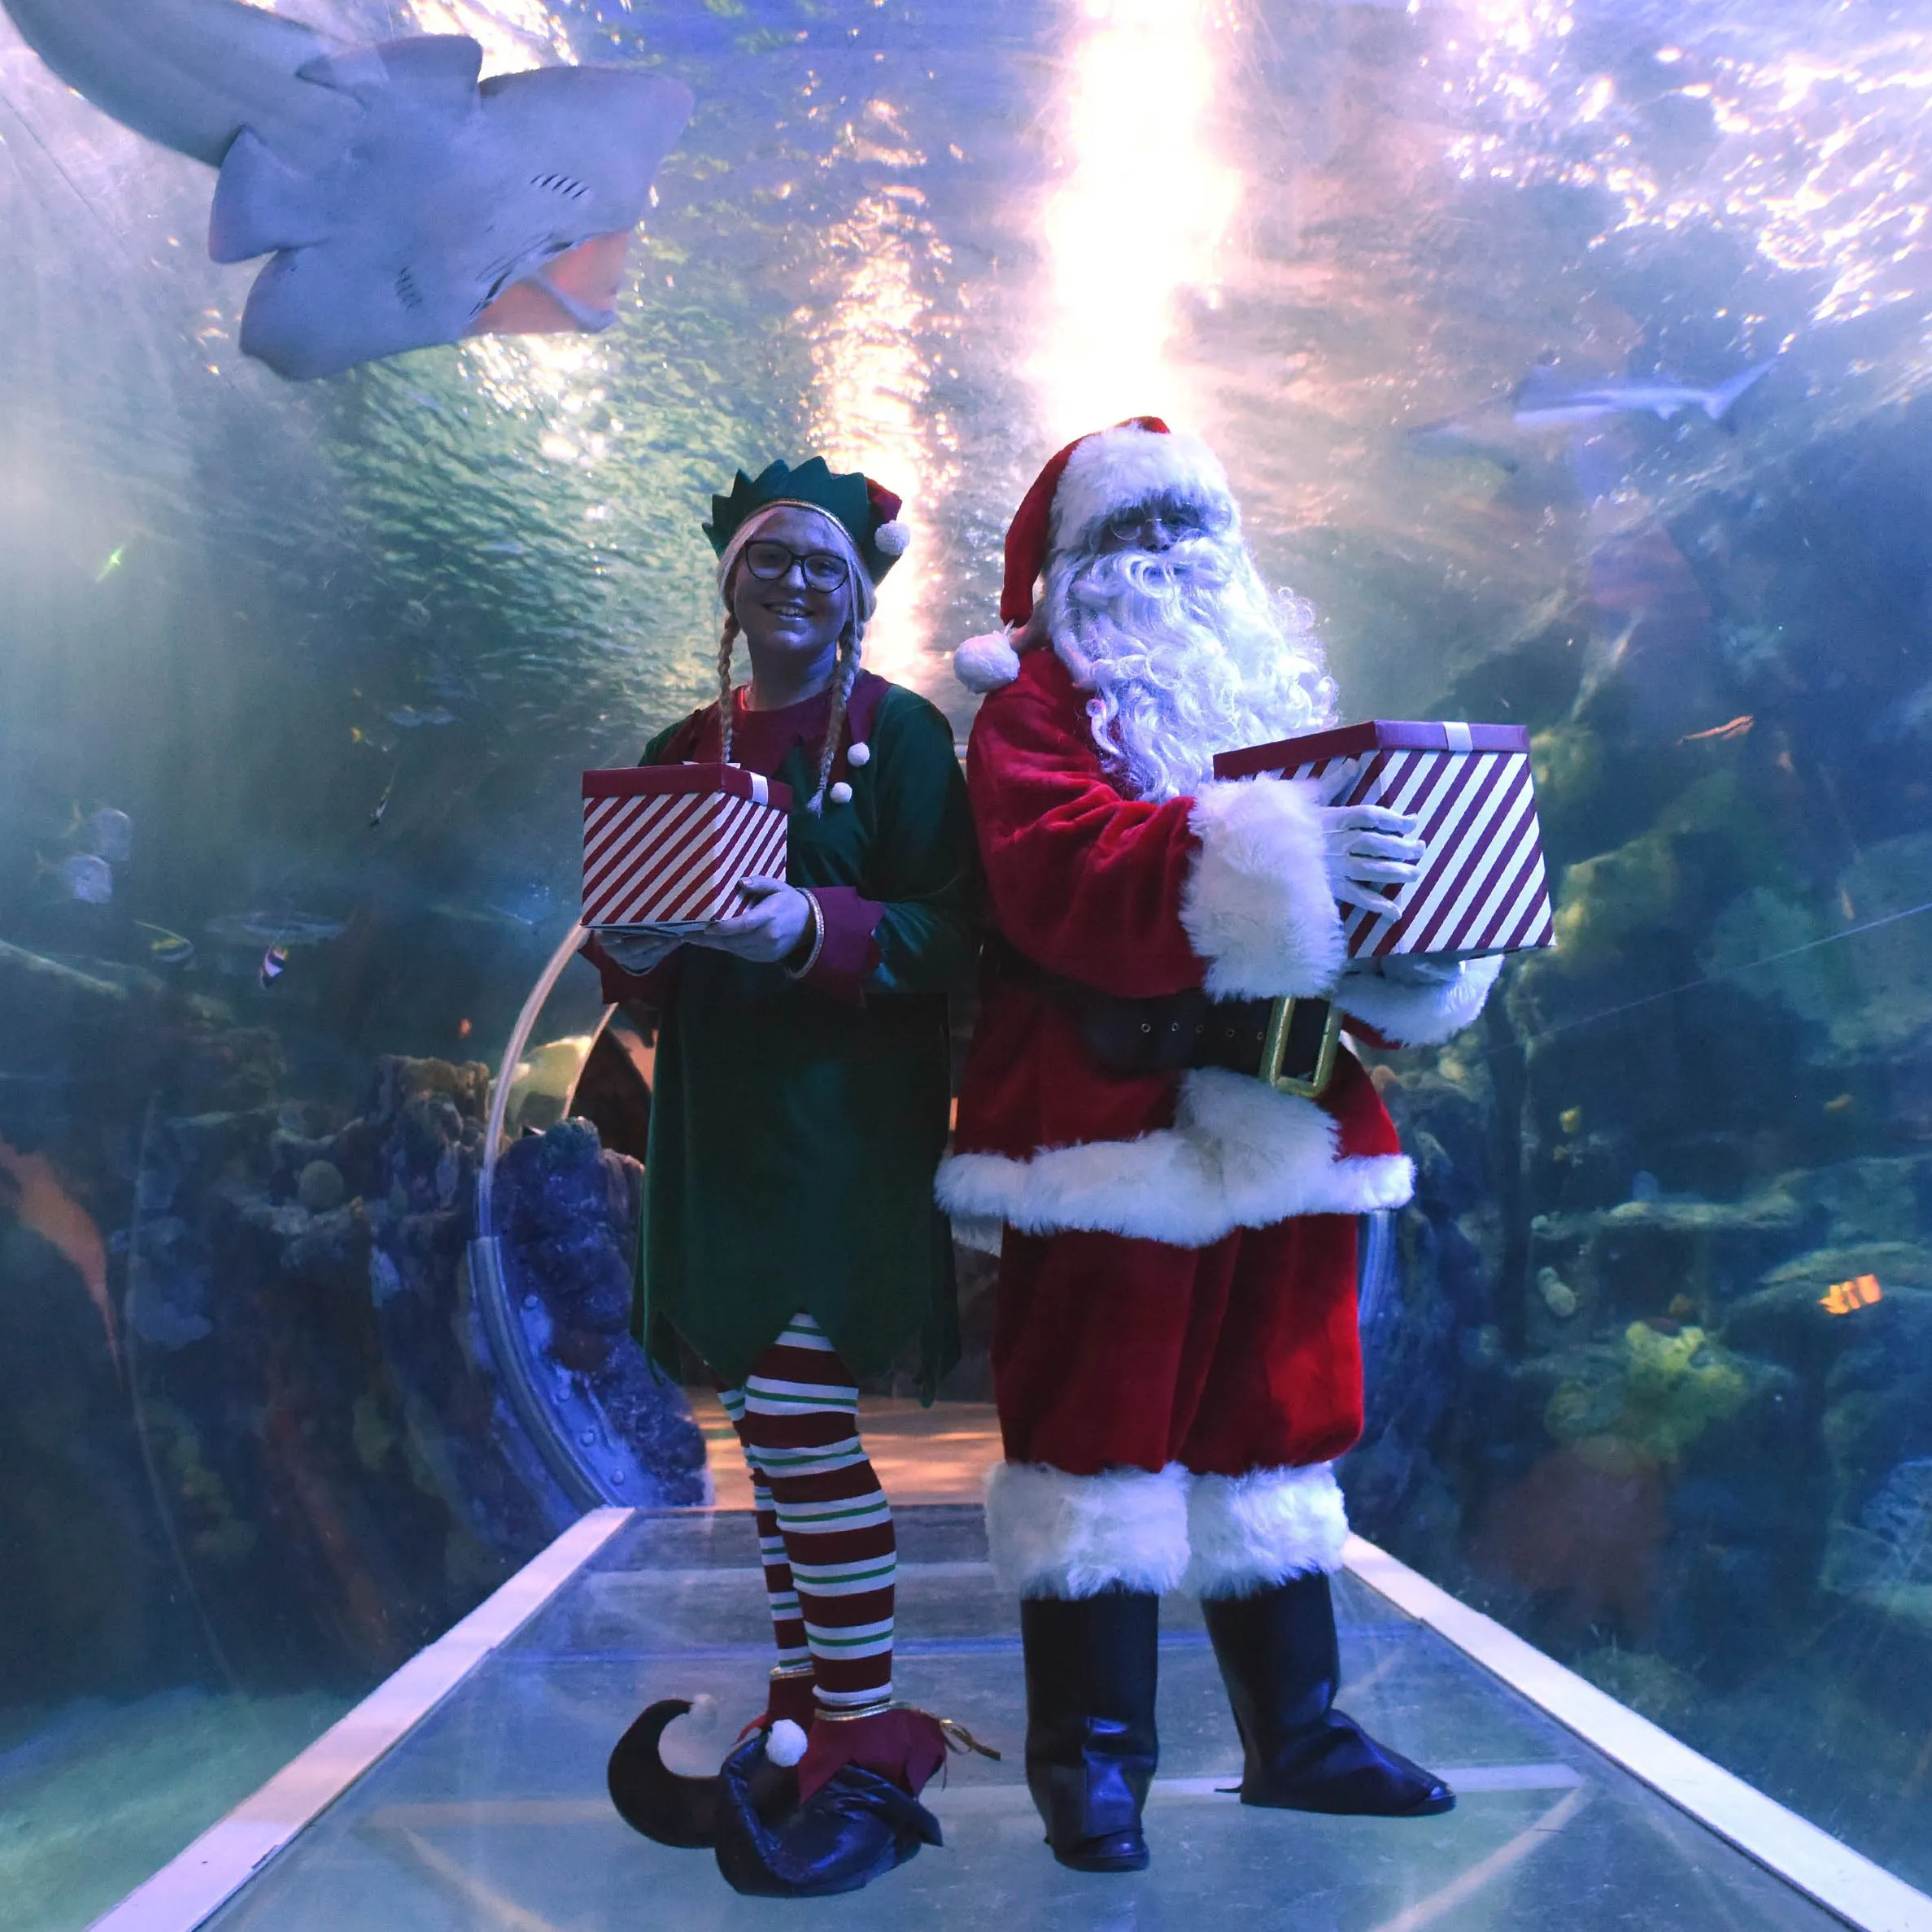
[[[779,1743],[777,1729],[771,1743]],[[784,1803],[771,1779],[767,1737],[748,1739],[719,1774],[719,1872],[752,1897],[858,1891],[922,1845],[943,1843],[920,1791],[947,1750],[966,1748],[995,1756],[922,1710],[889,1708],[854,1719],[819,1712],[794,1770],[796,1797]]]

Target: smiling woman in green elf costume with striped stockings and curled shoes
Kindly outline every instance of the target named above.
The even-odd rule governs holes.
[[[752,1468],[779,1663],[717,1777],[659,1758],[653,1704],[611,1795],[663,1843],[711,1845],[740,1891],[850,1891],[937,1843],[918,1795],[941,1723],[893,1704],[893,1517],[858,1379],[918,1343],[958,1352],[933,1206],[949,1113],[947,995],[970,983],[980,875],[952,728],[862,668],[898,498],[813,456],[711,498],[719,697],[643,763],[726,759],[790,786],[784,879],[676,941],[587,954],[605,997],[657,1009],[639,1335],[711,1370]],[[732,686],[744,639],[748,688]]]

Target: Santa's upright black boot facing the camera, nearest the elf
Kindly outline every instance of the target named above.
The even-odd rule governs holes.
[[[1047,1826],[1047,1843],[1076,1872],[1140,1872],[1159,1739],[1153,1679],[1159,1598],[1136,1590],[1028,1598],[1026,1787]]]

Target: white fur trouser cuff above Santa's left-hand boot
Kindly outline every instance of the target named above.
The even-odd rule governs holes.
[[[993,1573],[1018,1596],[1097,1596],[1111,1584],[1173,1590],[1188,1567],[1188,1476],[1115,1468],[1068,1476],[1051,1463],[985,1472]]]

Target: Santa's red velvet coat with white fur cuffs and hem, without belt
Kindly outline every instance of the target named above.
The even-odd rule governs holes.
[[[1107,993],[1333,993],[1383,1043],[1445,1039],[1493,980],[1408,987],[1343,956],[1316,798],[1254,779],[1148,804],[1101,769],[1084,694],[1036,649],[993,692],[966,765],[993,922],[1028,960]],[[1236,1227],[1408,1200],[1412,1169],[1360,1063],[1321,1101],[1221,1068],[1119,1076],[1037,980],[989,956],[939,1200],[1026,1233],[1202,1248]]]

